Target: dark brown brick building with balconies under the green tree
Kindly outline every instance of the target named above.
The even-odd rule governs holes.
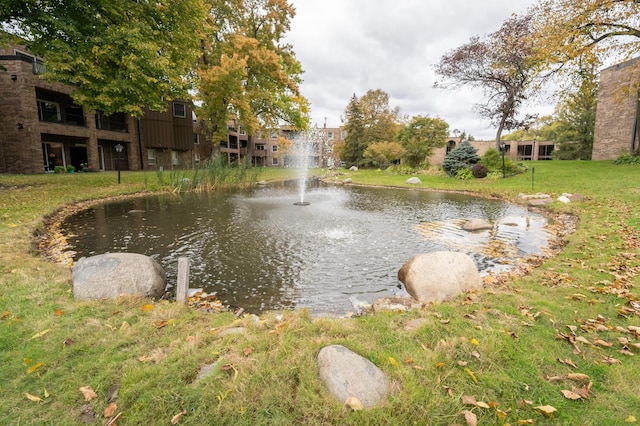
[[[0,173],[187,168],[211,155],[190,102],[140,120],[107,116],[76,105],[73,87],[42,79],[45,64],[24,47],[1,46],[0,66]]]

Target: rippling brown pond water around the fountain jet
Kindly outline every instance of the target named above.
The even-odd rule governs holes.
[[[405,295],[397,273],[418,253],[470,254],[481,274],[547,245],[547,221],[526,208],[459,194],[309,184],[163,194],[104,203],[63,224],[74,259],[107,252],[153,257],[171,291],[180,257],[190,287],[247,312],[308,307],[344,314],[354,302]],[[484,218],[493,229],[460,226]]]

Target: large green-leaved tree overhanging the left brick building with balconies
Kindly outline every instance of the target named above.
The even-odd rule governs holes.
[[[141,116],[191,86],[202,0],[3,0],[0,24],[42,57],[45,78],[73,85],[89,110]],[[6,38],[6,34],[5,34]]]

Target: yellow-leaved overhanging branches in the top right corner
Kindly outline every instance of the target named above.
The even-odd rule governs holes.
[[[539,0],[531,12],[537,55],[554,70],[640,51],[638,0]]]

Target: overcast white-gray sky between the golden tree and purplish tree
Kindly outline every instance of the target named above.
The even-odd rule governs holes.
[[[438,116],[476,139],[495,130],[473,112],[480,92],[433,87],[446,52],[500,28],[534,0],[289,0],[296,16],[286,41],[305,70],[312,124],[338,127],[355,93],[381,89],[403,114]],[[541,99],[528,111],[549,114]]]

